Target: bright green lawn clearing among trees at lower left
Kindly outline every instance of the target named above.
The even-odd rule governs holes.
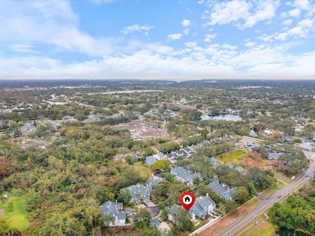
[[[4,218],[7,219],[9,227],[17,227],[20,230],[24,230],[28,228],[29,221],[27,218],[27,211],[25,210],[25,198],[24,197],[17,197],[17,201],[15,201],[15,197],[10,196],[7,192],[1,193],[0,196],[3,194],[8,195],[8,200],[5,201],[3,204],[0,202],[1,209],[4,210]],[[12,202],[14,208],[12,211],[8,208],[8,203]]]

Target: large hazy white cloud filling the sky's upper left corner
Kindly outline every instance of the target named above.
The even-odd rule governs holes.
[[[68,1],[0,1],[0,42],[53,45],[59,51],[108,55],[113,38],[94,38],[78,29],[78,17]]]

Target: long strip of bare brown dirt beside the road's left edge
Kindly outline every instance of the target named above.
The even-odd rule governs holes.
[[[198,236],[215,236],[220,234],[224,229],[231,226],[236,221],[242,219],[246,214],[248,214],[252,209],[257,207],[260,203],[258,198],[253,198],[252,201],[244,204],[238,208],[238,212],[229,214],[220,220],[216,221],[210,227],[198,232]]]

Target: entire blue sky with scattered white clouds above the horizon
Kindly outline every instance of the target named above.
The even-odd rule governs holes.
[[[0,1],[0,79],[315,79],[315,1]]]

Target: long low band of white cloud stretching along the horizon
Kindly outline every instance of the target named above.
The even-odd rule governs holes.
[[[188,44],[194,47],[173,51],[159,45],[162,49],[157,53],[150,49],[157,45],[146,45],[147,49],[130,54],[70,64],[43,57],[0,57],[0,78],[314,79],[315,52],[291,55],[287,52],[292,47],[290,43],[260,44],[241,51],[235,51],[236,46],[229,44],[212,44],[207,48],[197,47],[195,42]],[[177,55],[181,57],[176,58]],[[248,69],[239,70],[244,66]]]

